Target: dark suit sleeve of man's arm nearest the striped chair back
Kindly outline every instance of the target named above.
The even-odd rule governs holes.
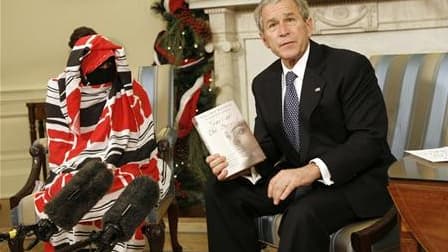
[[[338,94],[347,138],[320,156],[337,184],[380,167],[376,162],[389,153],[386,108],[374,70],[363,56],[351,64],[346,69],[359,70],[346,73]]]

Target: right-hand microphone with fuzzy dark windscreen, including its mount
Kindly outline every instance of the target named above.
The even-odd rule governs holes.
[[[74,251],[90,243],[96,244],[97,251],[111,251],[118,242],[131,239],[159,200],[159,194],[156,181],[146,176],[135,178],[104,214],[103,229],[100,232],[93,231],[88,239],[57,251]]]

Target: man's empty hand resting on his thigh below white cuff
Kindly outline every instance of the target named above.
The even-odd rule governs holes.
[[[297,187],[311,185],[320,177],[319,167],[313,163],[304,167],[283,169],[269,181],[268,197],[272,198],[274,205],[278,205]]]

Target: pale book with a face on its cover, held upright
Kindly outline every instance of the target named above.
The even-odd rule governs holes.
[[[210,154],[226,157],[226,179],[238,176],[266,159],[234,101],[194,116],[193,125]]]

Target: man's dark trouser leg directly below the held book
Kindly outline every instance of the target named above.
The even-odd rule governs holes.
[[[227,182],[210,179],[205,191],[210,252],[259,251],[255,217],[283,212],[286,201],[274,206],[266,183],[252,185],[243,178]]]

